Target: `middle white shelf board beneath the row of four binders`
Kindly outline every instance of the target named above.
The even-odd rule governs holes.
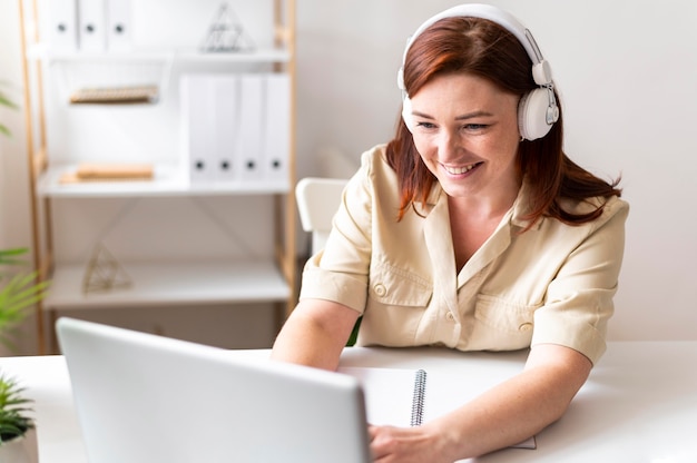
[[[289,190],[289,183],[286,178],[192,183],[183,169],[164,165],[155,167],[155,176],[150,180],[60,183],[65,174],[75,173],[77,165],[49,168],[39,178],[37,194],[40,197],[51,198],[109,198],[286,194]]]

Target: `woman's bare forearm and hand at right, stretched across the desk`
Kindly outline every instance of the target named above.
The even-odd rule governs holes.
[[[448,462],[514,445],[559,420],[591,362],[559,345],[532,347],[524,371],[419,427],[372,426],[376,462]]]

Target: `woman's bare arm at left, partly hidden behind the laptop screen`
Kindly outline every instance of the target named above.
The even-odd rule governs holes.
[[[359,316],[338,303],[303,299],[281,329],[272,358],[334,371]]]

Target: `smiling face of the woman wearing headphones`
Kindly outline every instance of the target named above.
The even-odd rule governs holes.
[[[432,79],[411,100],[414,145],[448,195],[518,193],[516,95],[478,76],[449,73]]]

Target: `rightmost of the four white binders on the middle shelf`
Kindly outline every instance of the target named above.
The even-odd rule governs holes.
[[[265,78],[264,175],[267,180],[288,179],[291,159],[291,78],[268,73]]]

